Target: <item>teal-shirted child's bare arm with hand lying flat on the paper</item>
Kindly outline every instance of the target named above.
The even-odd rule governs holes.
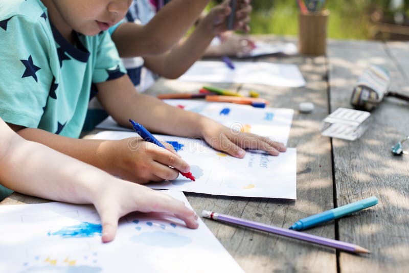
[[[163,103],[162,101],[135,92],[125,75],[121,78],[98,83],[98,100],[108,113],[121,125],[129,127],[128,119],[144,125],[157,133],[180,137],[205,139],[213,148],[232,156],[243,157],[244,149],[259,149],[271,155],[286,150],[282,143],[252,133],[237,132],[220,123]],[[116,90],[116,92],[111,92]]]

